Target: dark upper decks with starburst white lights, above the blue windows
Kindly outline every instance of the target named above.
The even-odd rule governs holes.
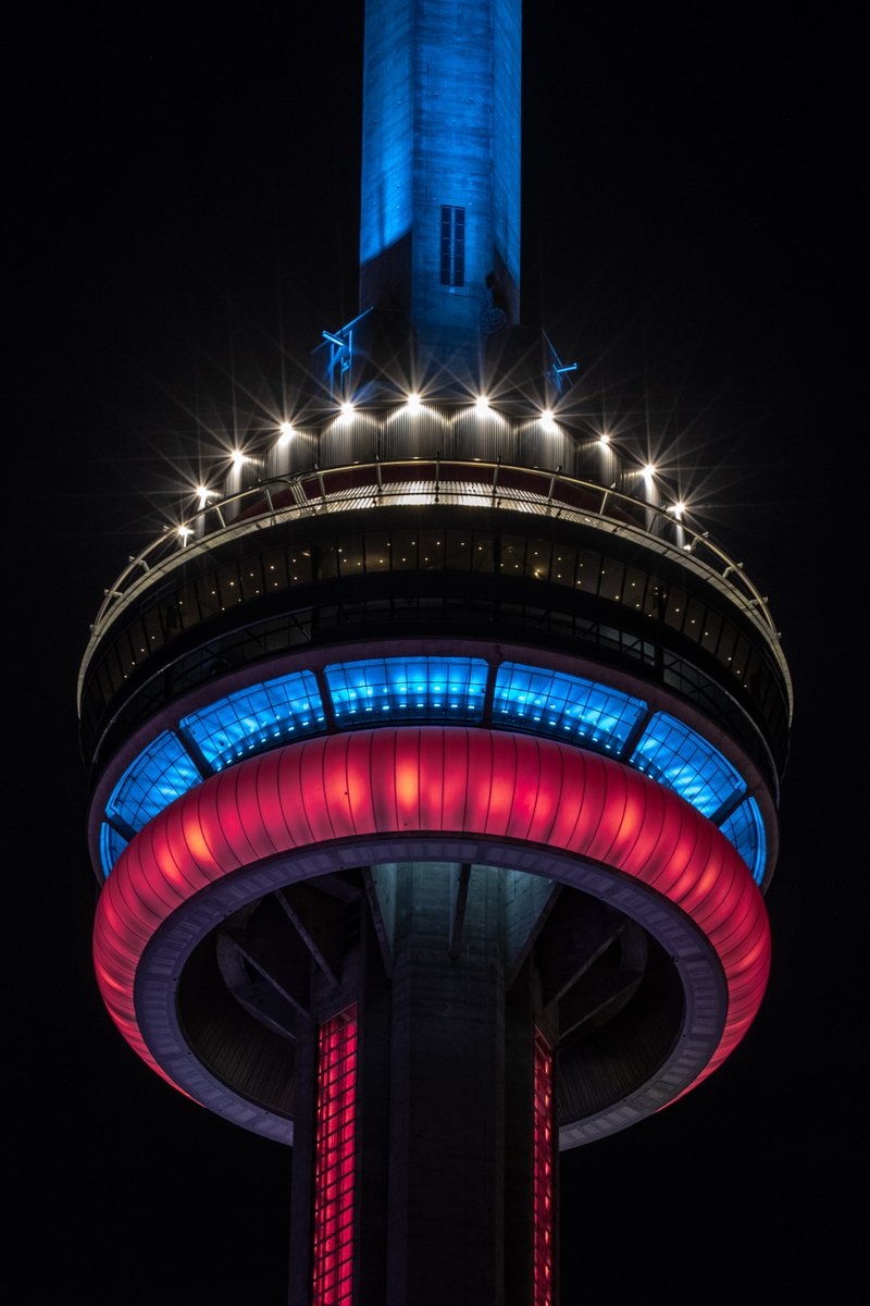
[[[758,794],[753,874],[768,883],[792,708],[772,616],[742,564],[613,445],[549,414],[404,402],[300,424],[252,448],[222,491],[128,564],[91,631],[80,709],[103,870],[124,842],[110,793],[149,737],[287,656],[318,678],[320,726],[252,724],[244,751],[337,729],[325,667],[374,640],[402,658],[473,648],[494,678],[488,716],[502,662],[593,680],[605,667],[612,688],[712,738]],[[202,759],[187,771],[201,778]]]

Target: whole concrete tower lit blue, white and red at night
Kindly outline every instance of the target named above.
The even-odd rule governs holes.
[[[558,1149],[767,982],[789,670],[523,317],[520,17],[367,0],[359,312],[81,665],[100,991],[292,1144],[291,1306],[556,1306]]]

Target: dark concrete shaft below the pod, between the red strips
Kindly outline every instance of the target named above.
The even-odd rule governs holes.
[[[357,973],[360,1080],[355,1301],[520,1306],[532,1276],[536,1002],[531,966],[507,991],[510,872],[378,867],[387,959],[370,918]],[[376,913],[377,917],[377,913]],[[333,1004],[335,1004],[333,995]],[[314,1114],[314,1063],[300,1047]],[[299,1115],[297,1115],[299,1122]],[[308,1302],[313,1130],[293,1156],[291,1301]]]

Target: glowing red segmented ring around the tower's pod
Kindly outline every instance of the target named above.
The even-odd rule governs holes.
[[[687,918],[727,986],[721,1037],[689,1087],[749,1029],[770,970],[767,913],[745,862],[711,821],[639,772],[574,746],[483,727],[402,726],[250,757],[136,836],[103,888],[94,929],[98,983],[124,1038],[175,1083],[149,1047],[134,990],[146,949],[194,897],[230,878],[256,879],[287,854],[305,861],[305,852],[322,850],[305,872],[322,875],[330,848],[415,836],[557,854],[642,887]]]

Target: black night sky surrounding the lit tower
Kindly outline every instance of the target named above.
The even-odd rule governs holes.
[[[805,12],[526,3],[523,319],[745,562],[796,684],[767,996],[702,1088],[563,1156],[562,1306],[841,1299],[863,1232],[857,35]],[[361,31],[363,0],[86,5],[8,56],[16,1303],[284,1306],[290,1153],[98,996],[74,691],[128,556],[357,311]]]

